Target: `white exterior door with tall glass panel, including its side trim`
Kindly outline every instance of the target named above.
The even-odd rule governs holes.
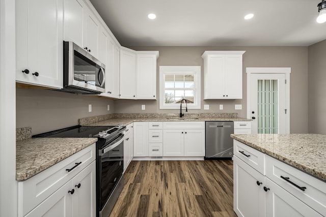
[[[286,77],[286,73],[250,74],[247,112],[253,119],[252,134],[289,133],[289,88],[286,86],[289,84]]]

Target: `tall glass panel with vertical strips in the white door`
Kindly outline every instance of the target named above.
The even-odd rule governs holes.
[[[278,133],[278,80],[258,80],[258,133]]]

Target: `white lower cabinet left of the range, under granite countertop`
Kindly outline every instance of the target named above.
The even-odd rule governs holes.
[[[95,217],[95,164],[93,144],[18,182],[18,216]]]

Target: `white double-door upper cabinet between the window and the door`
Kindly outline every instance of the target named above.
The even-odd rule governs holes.
[[[242,54],[246,51],[205,51],[204,100],[242,99]]]

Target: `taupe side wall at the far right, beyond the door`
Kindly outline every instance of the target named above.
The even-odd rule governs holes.
[[[309,133],[326,135],[326,40],[309,46]]]

